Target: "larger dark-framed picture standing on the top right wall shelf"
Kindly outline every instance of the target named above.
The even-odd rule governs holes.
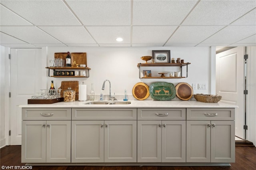
[[[155,63],[171,63],[170,50],[152,50]]]

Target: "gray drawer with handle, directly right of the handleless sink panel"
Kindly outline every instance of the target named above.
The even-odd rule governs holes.
[[[138,108],[138,120],[186,120],[186,108]]]

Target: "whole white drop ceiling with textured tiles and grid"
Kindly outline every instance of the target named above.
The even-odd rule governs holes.
[[[0,14],[6,47],[256,45],[256,0],[0,0]]]

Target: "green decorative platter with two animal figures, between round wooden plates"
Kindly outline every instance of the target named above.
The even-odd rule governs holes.
[[[154,82],[150,84],[149,93],[152,99],[166,101],[174,99],[176,89],[172,83]]]

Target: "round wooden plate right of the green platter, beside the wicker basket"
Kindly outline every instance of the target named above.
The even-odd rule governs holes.
[[[181,100],[189,100],[193,96],[193,89],[188,83],[178,83],[175,89],[176,96]]]

